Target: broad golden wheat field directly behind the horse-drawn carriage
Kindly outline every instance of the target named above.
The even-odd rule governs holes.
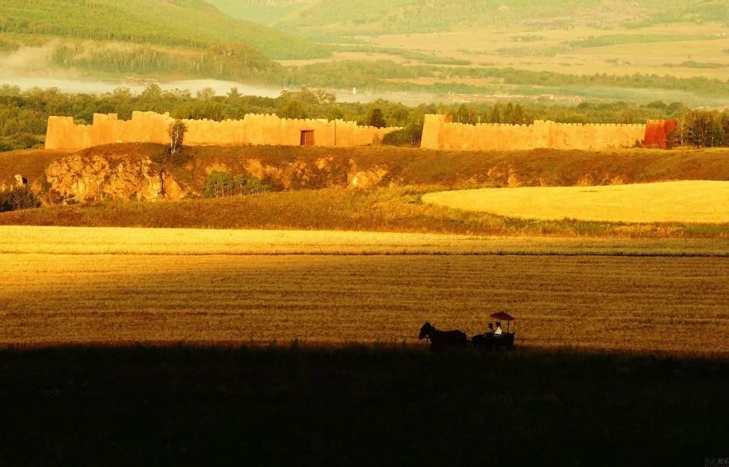
[[[506,254],[486,248],[499,239],[358,232],[3,227],[0,238],[5,344],[414,342],[426,320],[480,331],[505,309],[523,346],[729,353],[729,258],[695,240],[674,248],[704,256],[610,256],[630,253],[574,240],[555,254],[540,243],[561,239],[537,238],[501,239],[521,242]],[[389,243],[375,252],[377,238]],[[483,250],[444,253],[459,240]],[[276,249],[286,242],[289,254]]]

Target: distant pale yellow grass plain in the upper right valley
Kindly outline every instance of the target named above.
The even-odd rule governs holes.
[[[729,55],[722,51],[729,48],[729,36],[714,40],[696,40],[697,36],[727,34],[728,30],[719,23],[673,24],[647,28],[574,28],[551,31],[494,31],[491,29],[464,29],[446,33],[398,34],[365,37],[368,42],[386,47],[420,49],[434,55],[470,60],[478,66],[513,66],[531,71],[554,71],[564,74],[658,74],[663,76],[706,76],[724,80],[727,68],[690,68],[677,66],[687,60],[721,63],[729,67]],[[685,41],[644,44],[617,44],[604,47],[580,47],[564,50],[557,55],[517,56],[505,49],[545,50],[547,47],[564,46],[566,42],[585,39],[590,36],[674,35],[685,36]],[[535,42],[515,42],[514,36],[538,36]],[[612,60],[616,60],[613,62]],[[666,63],[674,65],[669,68]],[[486,84],[486,82],[480,83]]]

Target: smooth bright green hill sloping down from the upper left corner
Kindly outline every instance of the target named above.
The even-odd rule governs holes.
[[[273,59],[329,55],[319,45],[229,17],[202,0],[0,0],[0,33],[192,50],[235,44],[260,64],[265,60],[259,53]]]

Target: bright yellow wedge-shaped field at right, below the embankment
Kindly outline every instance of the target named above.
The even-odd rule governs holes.
[[[424,203],[523,219],[610,222],[729,222],[728,181],[669,181],[601,187],[521,187],[429,193]]]

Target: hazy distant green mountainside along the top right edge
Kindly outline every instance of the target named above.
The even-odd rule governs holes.
[[[460,27],[574,28],[677,22],[729,23],[722,0],[208,0],[230,15],[342,34],[451,31]],[[283,13],[283,14],[282,14]],[[276,15],[278,20],[275,19]]]

